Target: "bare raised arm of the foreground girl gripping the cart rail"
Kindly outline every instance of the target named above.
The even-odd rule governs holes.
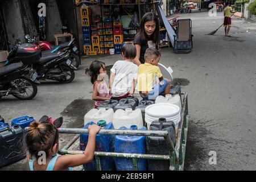
[[[98,131],[100,131],[100,129],[101,127],[97,125],[89,126],[89,139],[84,154],[60,156],[56,161],[54,170],[61,171],[69,167],[76,167],[82,164],[92,162],[96,146],[96,135]]]

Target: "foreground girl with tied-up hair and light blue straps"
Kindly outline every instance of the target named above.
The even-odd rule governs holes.
[[[96,134],[101,127],[89,126],[89,140],[84,154],[58,155],[59,132],[51,123],[32,122],[27,130],[26,144],[31,171],[72,171],[71,167],[89,163],[94,158]]]

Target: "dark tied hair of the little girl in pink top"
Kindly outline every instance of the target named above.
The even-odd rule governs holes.
[[[92,64],[90,64],[90,68],[85,69],[85,74],[90,77],[92,84],[97,81],[101,68],[105,68],[105,63],[102,61],[93,61]]]

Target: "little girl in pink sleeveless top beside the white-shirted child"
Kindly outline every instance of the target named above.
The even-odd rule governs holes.
[[[108,85],[104,80],[106,76],[105,63],[101,61],[93,61],[89,69],[85,70],[86,75],[90,77],[93,84],[93,100],[95,101],[95,109],[102,106],[103,101],[109,100]]]

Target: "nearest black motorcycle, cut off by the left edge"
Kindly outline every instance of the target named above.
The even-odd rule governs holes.
[[[38,93],[37,76],[36,71],[22,63],[0,68],[0,99],[13,95],[19,100],[31,100]]]

